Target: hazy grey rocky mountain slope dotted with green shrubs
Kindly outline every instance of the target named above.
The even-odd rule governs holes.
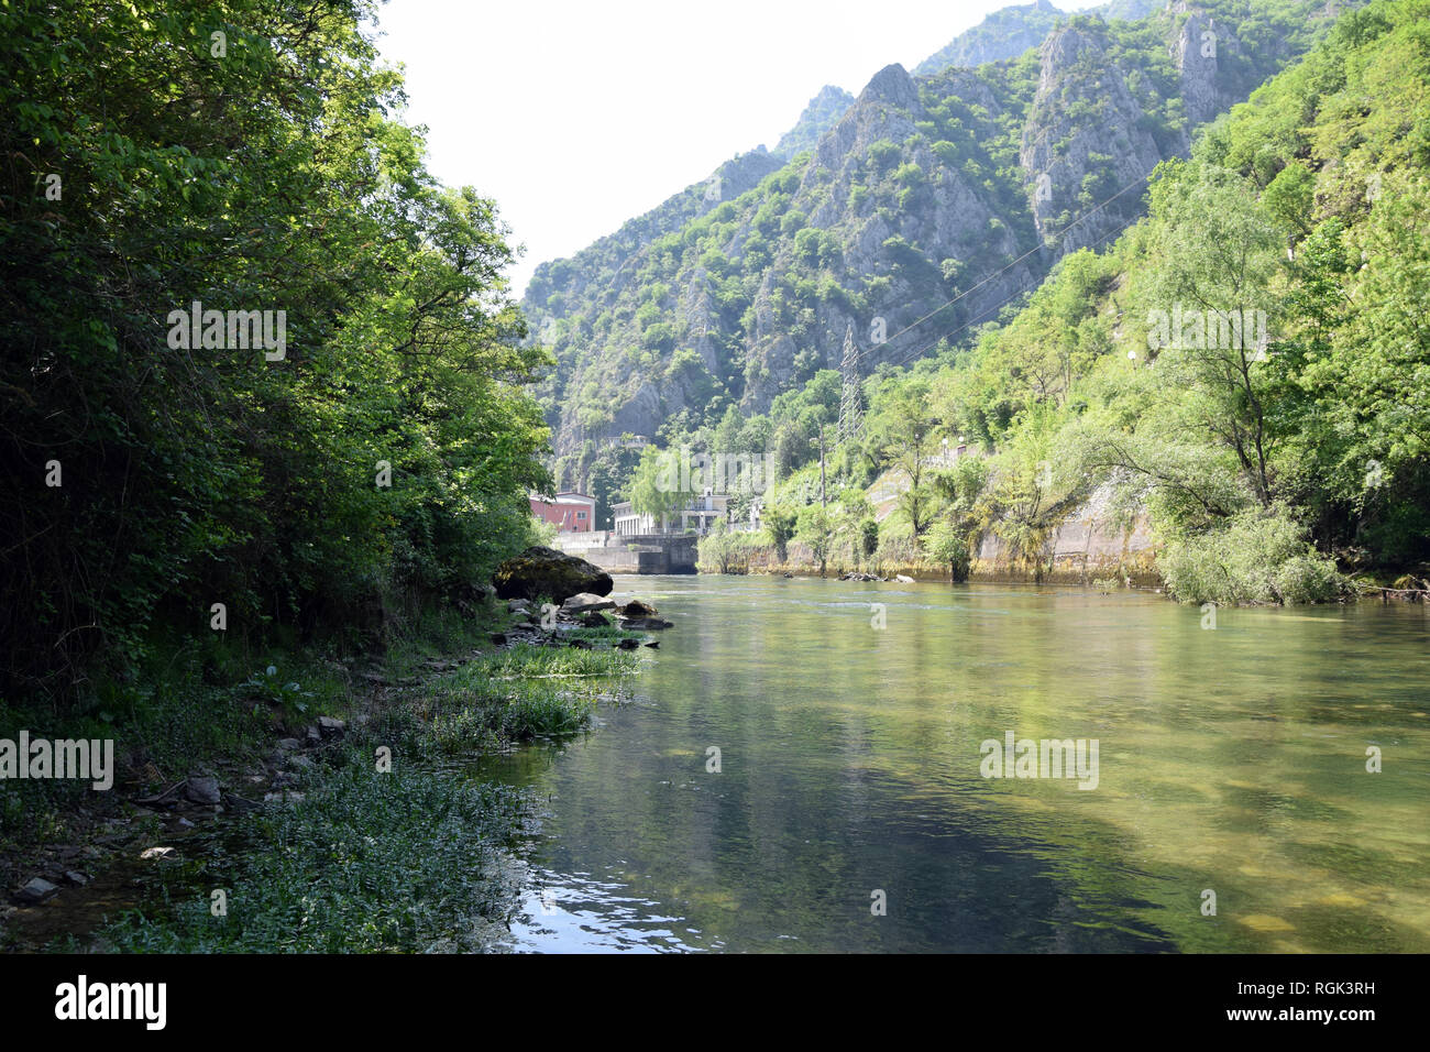
[[[689,187],[542,265],[523,308],[559,362],[543,392],[558,472],[622,432],[761,411],[838,368],[851,328],[864,375],[965,338],[1141,215],[1145,177],[1187,152],[1195,122],[1328,17],[1318,0],[1178,3],[1070,17],[1037,52],[975,70],[889,66],[811,153],[782,167],[745,155],[721,200]]]

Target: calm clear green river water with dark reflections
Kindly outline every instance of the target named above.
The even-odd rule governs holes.
[[[1430,950],[1423,605],[616,591],[676,624],[633,698],[482,769],[546,802],[511,949]],[[1095,787],[984,777],[1008,731],[1095,740]]]

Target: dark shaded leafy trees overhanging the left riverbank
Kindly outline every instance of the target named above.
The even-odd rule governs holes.
[[[546,356],[372,14],[0,7],[7,698],[170,637],[378,631],[526,537]]]

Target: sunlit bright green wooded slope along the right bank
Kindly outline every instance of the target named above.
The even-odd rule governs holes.
[[[1379,0],[1163,163],[1150,215],[1107,250],[1064,258],[972,346],[878,369],[828,508],[807,437],[834,431],[837,372],[768,417],[731,409],[712,441],[776,435],[794,472],[768,542],[849,564],[957,575],[991,530],[1035,567],[1101,491],[1151,515],[1183,600],[1327,600],[1346,573],[1423,577],[1427,196],[1430,4]],[[919,472],[942,439],[978,455]],[[912,484],[874,527],[864,488],[895,467]]]

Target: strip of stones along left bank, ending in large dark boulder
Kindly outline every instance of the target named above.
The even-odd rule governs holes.
[[[575,591],[561,595],[559,605],[551,601],[566,588]],[[518,595],[503,604],[498,598],[502,590]],[[658,640],[633,638],[632,633],[661,631],[674,623],[659,618],[649,603],[612,598],[611,590],[609,575],[598,567],[532,548],[502,564],[493,585],[479,587],[475,598],[488,618],[496,620],[498,630],[488,633],[496,651],[658,648]],[[399,694],[420,691],[479,657],[480,651],[429,657],[408,676],[369,661],[346,671],[347,719],[319,714],[300,726],[280,724],[270,747],[256,759],[196,766],[172,781],[149,764],[129,771],[113,794],[83,799],[69,813],[67,834],[59,843],[11,852],[6,859],[11,886],[7,902],[0,903],[0,948],[39,950],[56,936],[83,935],[140,897],[154,879],[154,867],[183,863],[186,843],[196,834],[302,803],[305,779],[342,747],[350,729],[360,730],[379,717]],[[270,676],[275,671],[269,668]],[[163,787],[146,789],[154,784]]]

